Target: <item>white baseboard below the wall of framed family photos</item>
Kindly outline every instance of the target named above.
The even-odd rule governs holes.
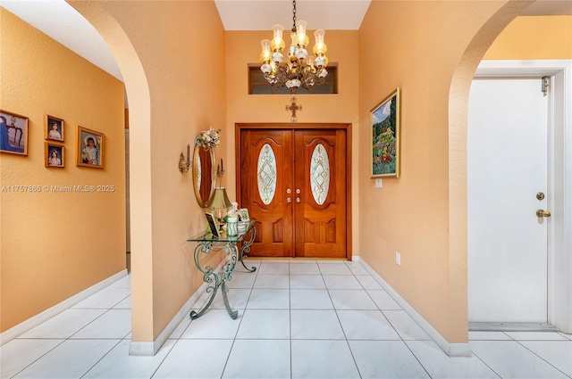
[[[114,282],[117,282],[124,276],[127,276],[127,269],[123,269],[114,276],[109,276],[107,279],[102,280],[101,282],[92,285],[88,289],[83,290],[82,292],[71,296],[71,298],[68,298],[58,304],[55,304],[54,307],[48,308],[43,312],[38,313],[38,315],[28,318],[26,321],[22,321],[18,325],[14,325],[10,329],[6,330],[4,333],[0,334],[0,345],[4,345],[4,343],[12,341],[14,338],[17,338],[21,334],[28,332],[30,329],[40,325],[41,323],[47,321],[48,319],[54,317],[55,315],[60,314],[64,310],[73,307],[80,301],[88,299],[89,296],[93,295],[98,291],[103,290],[106,286],[113,284]]]

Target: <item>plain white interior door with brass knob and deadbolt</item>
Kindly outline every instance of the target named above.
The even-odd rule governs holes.
[[[549,203],[547,104],[541,78],[473,80],[467,126],[470,322],[547,322],[549,218],[535,215]]]

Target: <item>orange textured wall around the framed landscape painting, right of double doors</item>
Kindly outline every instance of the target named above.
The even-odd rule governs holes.
[[[467,342],[466,165],[463,133],[450,135],[450,86],[465,54],[484,54],[469,45],[503,4],[374,1],[359,29],[359,255],[448,342]],[[396,87],[400,178],[379,189],[369,111]]]

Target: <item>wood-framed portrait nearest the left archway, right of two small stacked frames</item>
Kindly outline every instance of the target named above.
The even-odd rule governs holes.
[[[75,139],[75,165],[104,168],[104,134],[78,125]]]

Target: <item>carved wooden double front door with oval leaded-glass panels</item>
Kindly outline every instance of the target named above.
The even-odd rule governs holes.
[[[237,124],[237,196],[260,221],[249,256],[351,259],[349,131]]]

